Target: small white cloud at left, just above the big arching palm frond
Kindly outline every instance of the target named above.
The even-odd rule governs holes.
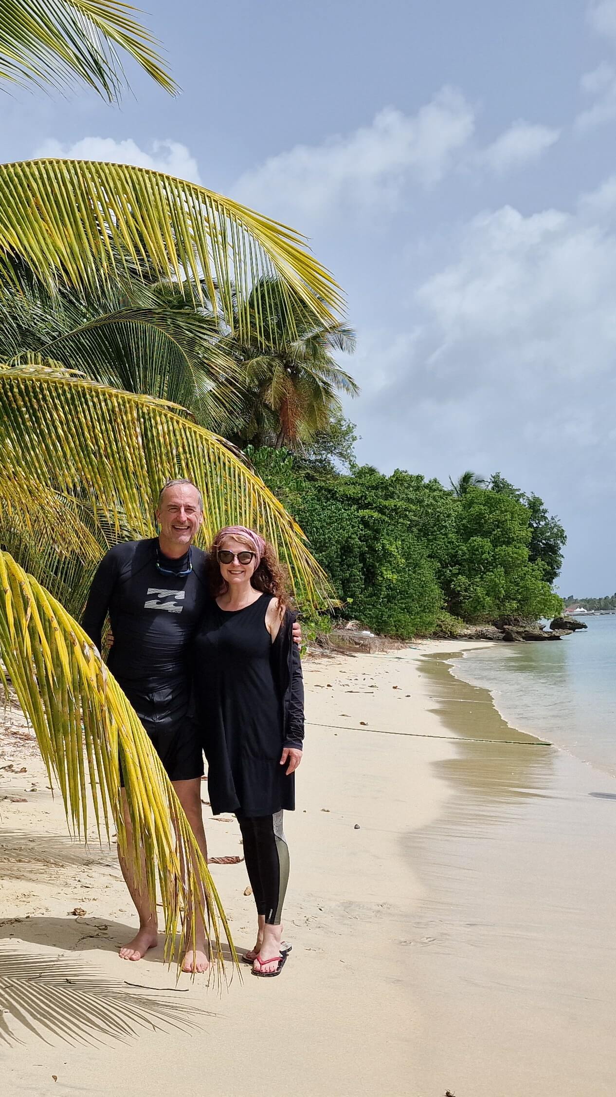
[[[36,149],[34,156],[132,163],[136,168],[151,168],[155,171],[176,176],[179,179],[201,182],[195,158],[185,145],[175,140],[155,140],[151,151],[146,152],[132,137],[126,140],[114,140],[113,137],[83,137],[73,145],[62,145],[56,138],[49,137]]]

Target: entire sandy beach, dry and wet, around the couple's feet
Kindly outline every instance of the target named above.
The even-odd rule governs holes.
[[[614,782],[533,745],[456,680],[444,657],[465,646],[305,664],[306,751],[285,817],[293,952],[280,979],[246,969],[228,991],[176,983],[161,949],[118,959],[134,915],[115,851],[70,841],[9,715],[2,1094],[611,1092],[615,896],[601,870]],[[210,855],[241,856],[235,821],[204,817]],[[251,947],[243,863],[213,872],[237,947]]]

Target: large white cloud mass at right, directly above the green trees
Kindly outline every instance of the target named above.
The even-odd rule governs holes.
[[[415,286],[407,339],[360,329],[363,460],[445,480],[500,468],[572,521],[613,506],[615,284],[616,177],[572,212],[472,218]]]

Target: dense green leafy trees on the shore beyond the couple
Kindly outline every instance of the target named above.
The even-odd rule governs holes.
[[[406,638],[455,632],[452,618],[538,618],[561,608],[550,577],[564,534],[540,499],[504,489],[500,477],[458,493],[400,470],[340,473],[322,454],[263,448],[250,457],[307,533],[343,618]]]

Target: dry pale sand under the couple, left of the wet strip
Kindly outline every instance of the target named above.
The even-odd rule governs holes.
[[[134,914],[114,852],[70,844],[35,748],[9,740],[0,765],[26,765],[27,773],[0,770],[0,796],[25,800],[0,801],[5,1097],[427,1097],[413,1086],[410,1053],[421,1026],[410,947],[421,945],[412,918],[420,886],[401,839],[436,815],[446,787],[430,762],[450,744],[370,731],[443,734],[426,711],[433,702],[417,654],[306,664],[298,810],[285,817],[293,953],[278,979],[256,980],[247,968],[229,992],[189,976],[173,989],[158,952],[137,964],[118,959]],[[33,779],[37,791],[26,791]],[[241,852],[236,823],[205,812],[210,855]],[[214,873],[236,945],[251,947],[243,863]],[[69,916],[76,907],[85,916]]]

